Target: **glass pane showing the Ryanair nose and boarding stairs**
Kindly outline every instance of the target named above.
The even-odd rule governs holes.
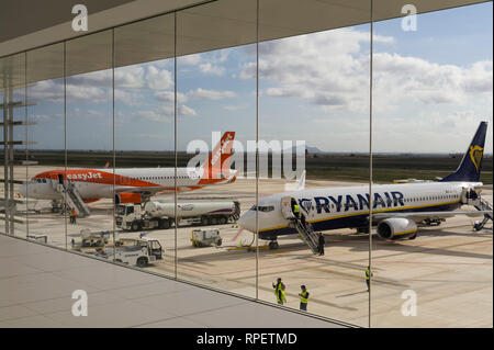
[[[273,23],[261,3],[260,23]],[[291,15],[273,20],[288,29],[311,16],[327,26],[370,16],[368,2],[268,4]],[[358,326],[369,314],[369,43],[370,26],[359,25],[259,44],[259,297],[279,303],[281,279],[284,306],[305,307],[308,291],[308,313]]]

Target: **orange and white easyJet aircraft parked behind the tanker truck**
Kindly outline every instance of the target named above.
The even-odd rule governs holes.
[[[50,170],[36,174],[20,188],[23,196],[40,200],[61,200],[63,187],[77,190],[83,202],[100,199],[115,202],[141,203],[149,196],[166,191],[193,191],[206,185],[231,183],[237,171],[229,169],[235,132],[223,134],[220,143],[201,168],[127,168],[127,169],[68,169]],[[114,191],[114,192],[113,192]]]

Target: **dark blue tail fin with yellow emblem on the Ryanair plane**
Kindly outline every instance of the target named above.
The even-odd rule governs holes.
[[[487,122],[481,122],[457,171],[447,176],[441,181],[476,182],[480,180],[486,131]]]

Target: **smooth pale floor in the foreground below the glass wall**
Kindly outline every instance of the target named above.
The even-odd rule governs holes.
[[[74,316],[75,291],[88,315]],[[0,328],[10,327],[343,327],[0,235]]]

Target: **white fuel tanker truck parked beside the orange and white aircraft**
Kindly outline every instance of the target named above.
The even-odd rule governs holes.
[[[227,200],[195,200],[177,203],[179,225],[223,225],[236,222],[240,203]],[[116,227],[124,230],[166,229],[175,222],[175,202],[149,201],[145,204],[117,204]]]

